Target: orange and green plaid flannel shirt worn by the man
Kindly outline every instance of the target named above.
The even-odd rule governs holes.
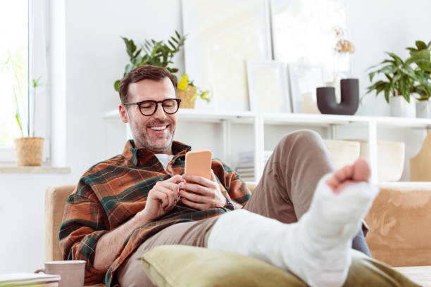
[[[173,141],[174,157],[164,170],[154,153],[146,148],[135,148],[130,140],[121,155],[97,163],[80,178],[77,189],[66,203],[58,240],[65,260],[87,261],[86,284],[100,283],[105,278],[106,286],[112,286],[120,264],[146,238],[158,231],[172,224],[214,217],[228,211],[225,208],[196,210],[181,202],[177,203],[173,210],[156,222],[144,224],[132,231],[107,272],[94,269],[99,238],[144,209],[146,196],[157,181],[183,174],[185,153],[190,149]],[[212,161],[212,169],[223,194],[244,206],[251,196],[244,181],[220,160]]]

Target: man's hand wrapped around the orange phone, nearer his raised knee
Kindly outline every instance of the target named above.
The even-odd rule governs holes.
[[[185,205],[198,210],[220,208],[226,205],[226,198],[220,191],[213,170],[211,170],[211,180],[192,174],[183,174],[182,178],[187,181],[184,189],[180,189],[182,203]]]

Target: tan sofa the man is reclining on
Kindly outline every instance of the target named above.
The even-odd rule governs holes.
[[[248,186],[253,191],[256,185]],[[75,187],[46,189],[45,262],[63,260],[58,230],[65,202]],[[381,184],[366,222],[369,227],[366,241],[375,259],[396,267],[422,286],[431,286],[431,184]]]

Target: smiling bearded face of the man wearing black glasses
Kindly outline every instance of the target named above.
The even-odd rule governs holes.
[[[147,100],[163,101],[166,98],[175,98],[175,89],[168,77],[161,81],[144,79],[129,84],[127,101],[130,103]],[[172,154],[171,146],[177,115],[169,115],[163,111],[161,103],[157,105],[156,113],[148,116],[142,115],[137,105],[120,105],[120,115],[123,122],[130,123],[136,148],[145,147],[155,153]]]

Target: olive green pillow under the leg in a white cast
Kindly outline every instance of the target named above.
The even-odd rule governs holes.
[[[389,265],[351,252],[344,286],[419,286]],[[208,248],[162,245],[139,259],[146,275],[159,287],[306,286],[293,274],[261,260]]]

